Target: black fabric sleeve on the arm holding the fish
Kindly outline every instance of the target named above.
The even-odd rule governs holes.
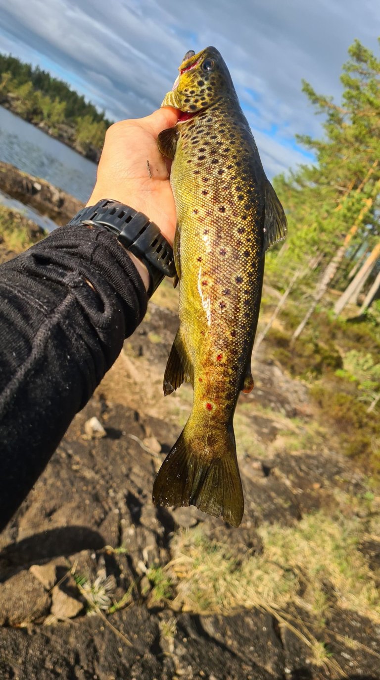
[[[136,267],[101,228],[60,227],[0,266],[0,530],[146,309]]]

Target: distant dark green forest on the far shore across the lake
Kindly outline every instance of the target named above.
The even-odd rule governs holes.
[[[98,160],[111,122],[62,80],[38,66],[0,54],[0,105],[67,143],[91,160]]]

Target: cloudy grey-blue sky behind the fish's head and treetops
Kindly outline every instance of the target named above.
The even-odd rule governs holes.
[[[0,0],[0,51],[120,120],[156,109],[185,52],[212,45],[273,177],[311,162],[296,133],[322,135],[301,80],[339,101],[354,39],[379,54],[379,16],[379,0]]]

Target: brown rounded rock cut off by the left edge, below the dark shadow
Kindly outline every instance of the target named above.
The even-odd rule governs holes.
[[[18,626],[39,619],[49,611],[50,597],[30,571],[0,584],[0,625]]]

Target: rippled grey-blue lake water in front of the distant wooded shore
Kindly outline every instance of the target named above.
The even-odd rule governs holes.
[[[0,106],[0,160],[52,182],[86,203],[96,165]]]

